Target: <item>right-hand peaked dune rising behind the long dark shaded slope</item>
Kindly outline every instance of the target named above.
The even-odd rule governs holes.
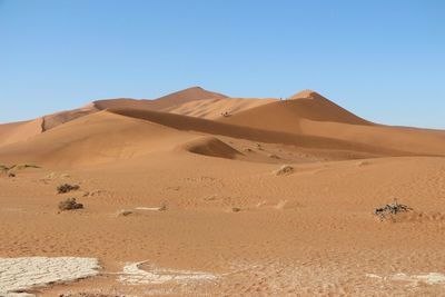
[[[372,123],[310,90],[290,98],[220,118],[219,121],[376,145],[415,155],[445,155],[445,138],[441,131]]]

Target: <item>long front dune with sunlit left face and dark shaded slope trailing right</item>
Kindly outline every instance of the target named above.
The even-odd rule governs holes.
[[[241,157],[236,149],[214,137],[196,140],[197,133],[332,150],[334,155],[344,151],[348,158],[407,155],[325,137],[266,131],[160,111],[110,109],[69,121],[24,143],[2,147],[0,159],[3,162],[79,167],[126,160],[175,148],[214,157]],[[255,142],[251,147],[255,147]]]

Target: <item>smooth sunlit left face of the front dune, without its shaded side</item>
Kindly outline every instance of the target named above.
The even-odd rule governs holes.
[[[190,137],[165,126],[101,111],[48,130],[26,143],[6,146],[0,149],[0,158],[58,167],[88,166],[166,150]]]

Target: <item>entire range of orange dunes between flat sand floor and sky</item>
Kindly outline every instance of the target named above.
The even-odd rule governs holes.
[[[281,101],[227,98],[194,87],[156,100],[99,100],[37,120],[1,125],[0,157],[81,166],[174,148],[222,158],[243,155],[220,137],[325,155],[343,151],[346,159],[445,155],[441,131],[376,125],[312,90]]]

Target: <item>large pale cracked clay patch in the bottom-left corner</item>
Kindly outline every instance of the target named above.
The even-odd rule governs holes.
[[[72,281],[99,274],[96,258],[0,258],[0,296],[53,283]]]

